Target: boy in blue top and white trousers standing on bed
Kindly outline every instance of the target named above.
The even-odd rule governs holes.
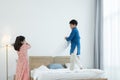
[[[67,41],[71,42],[71,49],[70,49],[70,70],[74,69],[75,63],[81,69],[81,65],[79,62],[79,55],[80,55],[80,35],[77,29],[78,22],[76,20],[71,20],[69,22],[70,28],[72,29],[69,37],[65,37]],[[75,48],[77,48],[77,53],[75,53]]]

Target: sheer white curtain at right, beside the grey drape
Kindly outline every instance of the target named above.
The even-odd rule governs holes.
[[[120,0],[103,0],[104,70],[108,80],[120,80]]]

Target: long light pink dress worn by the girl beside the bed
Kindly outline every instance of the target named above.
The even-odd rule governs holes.
[[[27,50],[30,48],[30,45],[24,43],[18,53],[18,62],[16,68],[16,77],[15,80],[30,80],[29,79],[29,64],[28,64],[28,55]]]

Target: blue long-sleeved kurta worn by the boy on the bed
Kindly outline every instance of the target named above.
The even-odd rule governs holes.
[[[80,35],[76,27],[72,29],[70,36],[67,37],[66,40],[71,41],[70,54],[74,53],[74,50],[77,47],[77,55],[80,55]]]

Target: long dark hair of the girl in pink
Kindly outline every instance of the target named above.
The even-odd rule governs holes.
[[[16,40],[15,40],[15,43],[13,44],[14,46],[14,49],[16,51],[19,51],[20,50],[20,47],[23,45],[22,42],[25,40],[25,37],[24,36],[17,36],[16,37]]]

